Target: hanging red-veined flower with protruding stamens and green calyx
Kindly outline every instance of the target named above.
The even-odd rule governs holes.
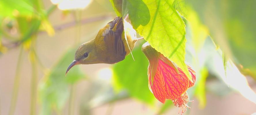
[[[187,65],[192,76],[192,81],[190,81],[179,67],[152,48],[148,42],[143,44],[142,51],[149,60],[148,80],[150,91],[160,102],[165,103],[166,99],[171,99],[175,106],[182,109],[182,113],[185,112],[189,102],[186,91],[194,86],[196,81],[194,70]]]

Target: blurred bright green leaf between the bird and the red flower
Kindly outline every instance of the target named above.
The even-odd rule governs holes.
[[[113,66],[113,85],[115,90],[125,89],[130,96],[152,105],[156,99],[148,87],[149,62],[142,53],[141,46],[132,51],[135,61],[128,55],[125,60]]]

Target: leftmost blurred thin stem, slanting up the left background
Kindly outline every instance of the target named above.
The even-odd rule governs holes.
[[[13,86],[13,92],[12,92],[12,100],[11,100],[11,106],[9,110],[9,115],[13,115],[16,107],[17,102],[17,96],[19,91],[19,84],[20,84],[20,67],[22,66],[22,53],[23,53],[23,47],[20,48],[20,54],[18,57],[18,63],[16,67],[16,73],[14,78],[14,86]]]

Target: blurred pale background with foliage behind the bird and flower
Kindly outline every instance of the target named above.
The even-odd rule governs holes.
[[[0,11],[1,115],[178,114],[170,100],[162,104],[148,89],[144,40],[132,51],[135,61],[128,55],[115,65],[78,65],[65,76],[77,47],[116,16],[109,0],[1,0]],[[226,76],[222,51],[191,16],[191,22],[184,19],[186,62],[197,72],[197,81],[188,89],[195,102],[185,114],[255,113],[255,76],[232,61]]]

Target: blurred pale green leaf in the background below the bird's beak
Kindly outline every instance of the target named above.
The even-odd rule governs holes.
[[[71,49],[60,58],[60,61],[39,82],[39,101],[41,102],[41,115],[49,115],[52,110],[61,112],[69,97],[69,85],[77,83],[84,78],[79,66],[74,66],[67,76],[65,72],[74,60],[75,49]]]

